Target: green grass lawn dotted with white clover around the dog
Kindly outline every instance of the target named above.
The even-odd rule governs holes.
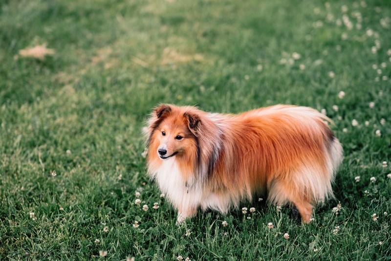
[[[0,7],[1,260],[391,259],[389,1]],[[42,44],[55,54],[19,53]],[[264,200],[176,226],[143,157],[145,120],[166,102],[325,109],[345,150],[336,200],[304,226]]]

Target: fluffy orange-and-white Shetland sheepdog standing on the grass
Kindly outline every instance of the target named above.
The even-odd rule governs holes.
[[[198,208],[226,214],[261,194],[294,205],[308,223],[315,204],[333,197],[343,158],[328,123],[307,107],[220,114],[163,104],[148,120],[148,174],[177,209],[177,223]]]

